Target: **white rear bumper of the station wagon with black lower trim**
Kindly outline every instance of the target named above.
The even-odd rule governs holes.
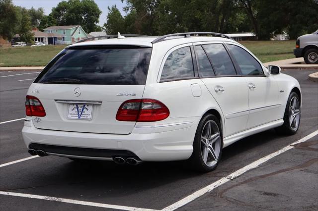
[[[191,156],[193,139],[200,118],[193,121],[136,126],[131,134],[98,134],[44,130],[26,121],[22,136],[29,149],[49,155],[89,159],[135,157],[145,161],[183,160]]]

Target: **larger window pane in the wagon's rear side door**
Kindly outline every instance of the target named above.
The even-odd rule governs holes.
[[[236,75],[232,60],[222,44],[203,45],[208,53],[216,75]]]

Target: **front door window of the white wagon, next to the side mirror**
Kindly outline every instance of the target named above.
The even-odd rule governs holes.
[[[244,49],[235,45],[228,45],[231,53],[237,60],[243,75],[264,75],[258,61]]]

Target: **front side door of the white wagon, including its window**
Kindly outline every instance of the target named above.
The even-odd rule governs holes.
[[[238,45],[227,44],[249,93],[249,117],[246,129],[274,120],[279,116],[278,86],[274,76],[266,76],[260,63]]]

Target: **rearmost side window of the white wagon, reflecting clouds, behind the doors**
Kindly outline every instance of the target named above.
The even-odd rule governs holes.
[[[190,47],[183,47],[170,53],[165,60],[160,82],[192,77],[194,77],[194,71]]]

